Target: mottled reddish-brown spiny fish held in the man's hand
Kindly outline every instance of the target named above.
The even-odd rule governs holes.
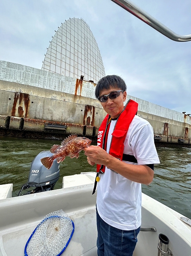
[[[84,148],[88,148],[91,142],[92,140],[86,137],[78,137],[76,134],[70,135],[61,142],[61,145],[53,145],[50,149],[53,155],[41,158],[41,163],[47,169],[50,169],[55,159],[57,163],[60,163],[63,162],[66,156],[78,158],[79,152]]]

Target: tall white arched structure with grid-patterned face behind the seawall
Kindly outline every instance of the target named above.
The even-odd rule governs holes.
[[[92,80],[105,76],[101,54],[89,25],[78,18],[65,21],[55,31],[42,65],[64,76]]]

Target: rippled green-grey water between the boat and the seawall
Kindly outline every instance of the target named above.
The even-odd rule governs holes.
[[[35,156],[49,150],[58,140],[35,140],[0,137],[0,184],[13,183],[13,196],[28,181],[30,165]],[[191,148],[157,147],[161,164],[155,165],[153,182],[142,185],[142,191],[191,218]],[[93,172],[95,166],[87,163],[84,152],[79,158],[66,157],[60,166],[60,178],[55,189],[62,188],[63,176]]]

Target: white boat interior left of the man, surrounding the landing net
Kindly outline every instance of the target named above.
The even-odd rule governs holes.
[[[59,189],[0,200],[0,256],[23,256],[28,238],[43,217],[62,209],[75,224],[65,255],[96,256],[95,198],[92,186]],[[4,208],[4,209],[3,209]]]

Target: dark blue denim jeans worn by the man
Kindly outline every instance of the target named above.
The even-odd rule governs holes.
[[[100,218],[97,210],[96,218],[98,256],[132,256],[140,227],[136,230],[114,228]]]

